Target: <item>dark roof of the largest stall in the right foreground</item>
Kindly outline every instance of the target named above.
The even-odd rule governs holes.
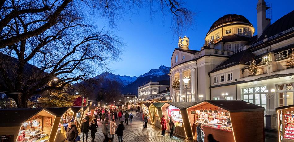
[[[205,100],[202,102],[208,102],[230,112],[249,112],[265,110],[264,107],[257,106],[253,103],[245,102],[243,100]]]

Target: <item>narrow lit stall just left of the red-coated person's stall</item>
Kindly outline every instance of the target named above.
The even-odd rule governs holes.
[[[160,102],[156,102],[156,103],[152,103],[149,106],[150,109],[150,116],[153,120],[153,124],[161,129],[161,124],[160,124],[160,118],[162,118],[163,114],[161,111],[161,107],[164,105],[164,103],[160,103]]]

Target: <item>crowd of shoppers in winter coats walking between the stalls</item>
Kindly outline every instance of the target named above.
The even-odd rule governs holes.
[[[138,111],[138,110],[137,110]],[[121,121],[122,116],[124,116],[124,121]],[[128,126],[133,123],[134,115],[125,111],[123,115],[122,110],[117,109],[106,109],[106,108],[98,108],[95,110],[93,121],[90,123],[90,117],[86,114],[83,119],[83,123],[81,124],[80,132],[83,133],[83,142],[88,142],[88,132],[91,132],[92,141],[95,141],[95,134],[97,132],[98,124],[97,121],[100,119],[100,123],[102,123],[102,132],[104,135],[103,142],[113,141],[115,135],[117,135],[119,142],[123,141],[123,131],[125,130],[125,126]],[[119,124],[116,124],[116,120],[120,121]],[[143,115],[143,128],[147,128],[149,117],[148,114],[145,113]],[[125,123],[125,124],[123,124]],[[173,132],[175,131],[175,121],[173,117],[169,117],[169,123],[167,122],[165,115],[162,116],[160,120],[160,124],[162,127],[161,136],[164,137],[165,132],[167,131],[167,126],[170,129],[170,138],[173,138]],[[202,123],[199,123],[196,131],[197,131],[197,142],[204,142],[205,132],[202,128]],[[78,136],[77,126],[70,122],[68,123],[68,128],[66,130],[66,138],[68,142],[76,142],[80,140]],[[208,135],[208,141],[216,142],[211,134]]]

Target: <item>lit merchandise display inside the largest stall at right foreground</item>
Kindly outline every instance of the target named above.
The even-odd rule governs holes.
[[[216,110],[196,110],[196,122],[203,123],[204,127],[212,127],[216,129],[232,131],[232,125],[228,111],[216,111]]]

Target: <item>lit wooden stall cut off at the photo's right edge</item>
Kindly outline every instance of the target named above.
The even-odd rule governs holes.
[[[278,114],[279,142],[294,141],[294,105],[276,108]]]

